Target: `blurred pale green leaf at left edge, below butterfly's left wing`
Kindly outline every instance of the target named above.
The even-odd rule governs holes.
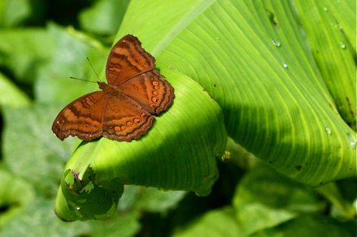
[[[2,108],[4,112],[4,163],[17,176],[34,183],[46,196],[55,196],[61,170],[73,141],[56,143],[51,133],[53,106]],[[24,119],[25,118],[25,119]]]

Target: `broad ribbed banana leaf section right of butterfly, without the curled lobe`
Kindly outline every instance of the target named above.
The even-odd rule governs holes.
[[[136,34],[160,69],[197,81],[221,106],[236,143],[312,186],[356,175],[356,133],[288,1],[141,4],[131,2],[117,39]]]

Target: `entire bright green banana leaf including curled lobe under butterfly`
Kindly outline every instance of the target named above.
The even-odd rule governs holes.
[[[318,2],[131,1],[116,39],[139,36],[174,86],[174,105],[139,141],[81,143],[64,171],[59,216],[112,213],[118,183],[208,194],[226,131],[302,183],[356,175],[356,14],[338,14],[356,3]],[[328,17],[343,31],[328,31]]]

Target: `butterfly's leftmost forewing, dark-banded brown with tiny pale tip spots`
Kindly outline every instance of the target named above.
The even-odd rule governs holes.
[[[107,101],[103,91],[81,96],[59,112],[52,124],[52,131],[61,140],[68,136],[78,136],[84,141],[90,141],[102,136]]]

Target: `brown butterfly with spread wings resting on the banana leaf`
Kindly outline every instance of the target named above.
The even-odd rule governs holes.
[[[138,139],[151,128],[154,115],[166,111],[174,99],[174,89],[155,70],[154,57],[132,35],[111,49],[106,80],[108,84],[97,82],[102,91],[81,96],[59,112],[52,125],[58,138]]]

